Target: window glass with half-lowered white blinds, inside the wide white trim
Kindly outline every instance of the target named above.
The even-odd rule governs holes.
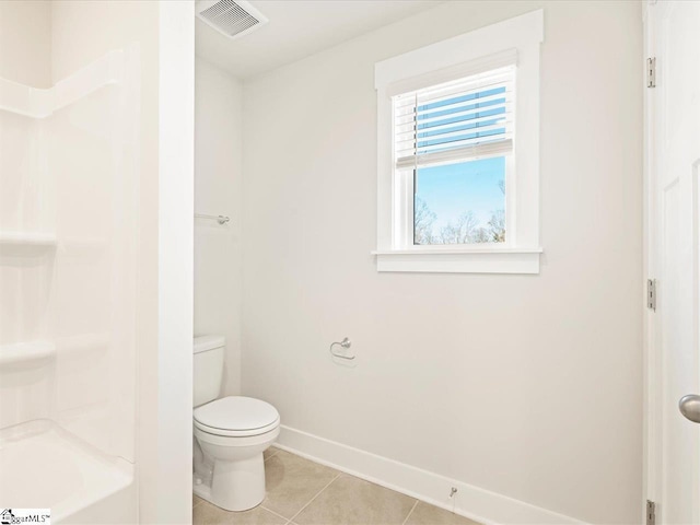
[[[513,172],[515,68],[392,97],[395,176],[412,186],[415,246],[501,244]]]

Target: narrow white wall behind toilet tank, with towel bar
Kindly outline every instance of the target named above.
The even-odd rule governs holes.
[[[241,390],[242,85],[197,58],[195,210],[231,222],[195,221],[195,335],[226,337],[222,395]]]

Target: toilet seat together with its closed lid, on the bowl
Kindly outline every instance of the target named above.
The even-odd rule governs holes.
[[[196,408],[194,423],[209,434],[245,438],[273,431],[280,424],[280,415],[260,399],[229,396]]]

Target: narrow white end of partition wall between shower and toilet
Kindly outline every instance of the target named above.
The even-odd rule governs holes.
[[[195,3],[159,2],[158,489],[141,523],[191,523]],[[144,438],[141,438],[144,440]],[[141,457],[141,460],[144,460]]]

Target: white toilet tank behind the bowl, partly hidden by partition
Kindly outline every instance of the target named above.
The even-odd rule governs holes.
[[[194,341],[194,406],[213,401],[219,397],[223,375],[223,349],[226,340],[222,336],[200,336]]]

